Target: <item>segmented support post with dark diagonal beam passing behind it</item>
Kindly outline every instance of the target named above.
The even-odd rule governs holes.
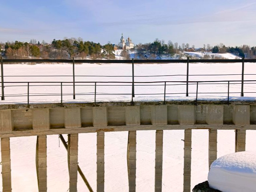
[[[68,134],[69,192],[77,192],[78,134]]]

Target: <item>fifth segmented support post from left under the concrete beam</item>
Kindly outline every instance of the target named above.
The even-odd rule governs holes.
[[[128,179],[129,179],[129,192],[136,191],[136,131],[129,131],[128,133],[128,150],[127,150],[127,163],[128,163]]]

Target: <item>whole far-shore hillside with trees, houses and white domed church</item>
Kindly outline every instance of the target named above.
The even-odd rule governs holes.
[[[2,57],[6,59],[246,59],[256,58],[256,47],[243,45],[226,47],[220,43],[212,47],[210,44],[196,48],[188,43],[179,45],[155,39],[153,43],[135,44],[132,38],[121,38],[117,44],[108,42],[105,45],[82,38],[64,40],[53,39],[51,43],[36,41],[0,43]]]

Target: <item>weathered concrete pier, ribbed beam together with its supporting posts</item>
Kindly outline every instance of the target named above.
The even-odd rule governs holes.
[[[97,192],[104,192],[104,132],[128,131],[129,191],[136,191],[136,131],[156,130],[155,191],[162,191],[164,130],[184,130],[184,192],[191,186],[192,129],[209,130],[209,167],[217,158],[217,130],[236,130],[234,151],[256,130],[254,102],[110,102],[0,105],[3,192],[12,191],[10,137],[37,136],[38,191],[47,191],[47,135],[68,134],[69,191],[77,191],[79,133],[97,132]]]

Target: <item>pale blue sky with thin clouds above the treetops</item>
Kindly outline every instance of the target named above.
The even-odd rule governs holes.
[[[51,42],[82,37],[118,43],[155,38],[202,47],[256,46],[255,0],[9,0],[0,1],[0,41]]]

